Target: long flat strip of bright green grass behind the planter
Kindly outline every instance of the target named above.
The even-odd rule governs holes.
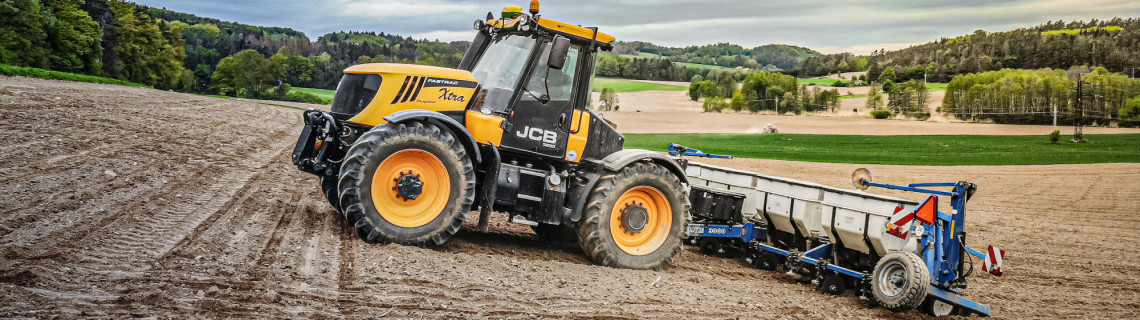
[[[1041,136],[626,134],[626,148],[670,142],[735,157],[857,164],[1026,165],[1140,163],[1140,134],[1086,134],[1050,145]]]

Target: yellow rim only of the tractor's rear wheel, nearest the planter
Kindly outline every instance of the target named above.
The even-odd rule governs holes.
[[[624,218],[626,213],[630,216]],[[632,227],[629,219],[634,221]],[[671,228],[673,206],[665,194],[652,187],[629,189],[610,211],[610,235],[621,251],[632,255],[646,255],[660,248]]]

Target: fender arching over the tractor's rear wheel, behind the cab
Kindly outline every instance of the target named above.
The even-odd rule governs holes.
[[[569,216],[567,218],[573,222],[581,220],[581,211],[586,207],[586,198],[589,197],[589,192],[594,190],[594,187],[596,187],[597,180],[602,178],[606,171],[617,172],[638,161],[650,161],[663,166],[669,170],[669,172],[677,175],[677,179],[679,179],[683,184],[682,188],[689,188],[689,177],[685,175],[685,169],[682,167],[676,159],[650,150],[622,149],[603,158],[601,163],[602,167],[595,170],[594,173],[586,177],[586,183],[581,189],[579,189],[577,195],[570,195],[568,203],[572,206],[570,207]]]

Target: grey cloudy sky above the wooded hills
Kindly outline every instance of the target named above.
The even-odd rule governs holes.
[[[471,40],[471,23],[527,0],[135,0],[199,16],[287,26],[311,39],[334,31],[376,31],[443,41]],[[1140,17],[1137,0],[546,0],[549,18],[598,26],[618,40],[684,47],[732,42],[870,54],[1049,20]]]

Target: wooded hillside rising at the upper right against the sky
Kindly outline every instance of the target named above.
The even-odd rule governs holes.
[[[1140,66],[1140,19],[1057,20],[1005,32],[978,30],[901,50],[876,51],[865,57],[840,54],[807,59],[800,72],[815,76],[863,71],[853,63],[860,58],[874,63],[860,65],[870,68],[870,76],[876,77],[878,71],[893,67],[898,81],[922,79],[927,74],[931,82],[948,82],[954,75],[1002,68],[1067,69],[1073,66],[1099,66],[1131,74],[1132,67]]]

